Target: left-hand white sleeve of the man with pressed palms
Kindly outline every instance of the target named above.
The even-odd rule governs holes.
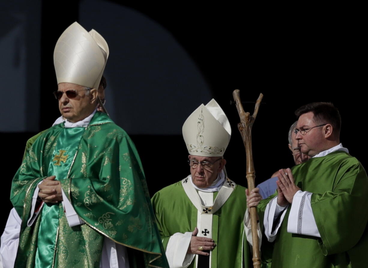
[[[263,218],[263,225],[265,226],[265,235],[269,242],[273,242],[276,239],[277,231],[285,217],[288,206],[282,207],[277,204],[277,195],[268,202]]]

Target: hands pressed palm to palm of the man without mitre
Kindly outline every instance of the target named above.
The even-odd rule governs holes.
[[[277,177],[279,180],[277,184],[277,204],[285,207],[288,204],[293,203],[294,195],[300,190],[294,183],[293,173],[291,169],[280,169]]]

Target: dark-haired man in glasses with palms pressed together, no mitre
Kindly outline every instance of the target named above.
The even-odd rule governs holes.
[[[312,158],[280,170],[278,195],[258,207],[272,267],[366,267],[368,178],[340,143],[339,111],[317,102],[296,115],[298,145]]]

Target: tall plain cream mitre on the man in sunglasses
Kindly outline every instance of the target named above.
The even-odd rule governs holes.
[[[54,49],[57,84],[67,82],[98,89],[108,57],[105,39],[74,22],[61,34]]]

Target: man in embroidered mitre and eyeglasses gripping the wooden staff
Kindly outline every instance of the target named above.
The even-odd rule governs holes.
[[[227,177],[223,155],[231,127],[214,99],[188,117],[183,137],[190,175],[152,197],[170,267],[250,267],[245,188]],[[259,200],[255,188],[248,205]]]

